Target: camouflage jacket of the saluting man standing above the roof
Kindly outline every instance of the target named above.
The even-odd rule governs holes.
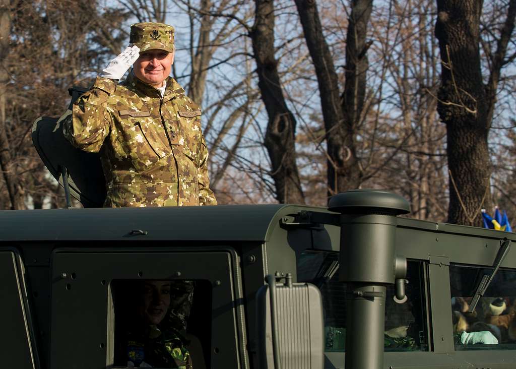
[[[98,77],[75,102],[63,133],[75,147],[100,153],[104,206],[217,204],[201,110],[173,78],[166,83],[162,98],[132,71],[119,84]]]

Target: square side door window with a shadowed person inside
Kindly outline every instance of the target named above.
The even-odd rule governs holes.
[[[211,283],[115,280],[115,366],[209,367]]]

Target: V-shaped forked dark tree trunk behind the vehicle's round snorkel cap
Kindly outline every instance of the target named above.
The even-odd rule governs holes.
[[[365,98],[368,66],[365,38],[373,1],[352,2],[347,30],[346,84],[342,98],[330,48],[322,34],[317,4],[314,0],[296,0],[296,6],[319,85],[328,153],[328,195],[331,196],[358,188],[361,183],[362,171],[354,137]]]

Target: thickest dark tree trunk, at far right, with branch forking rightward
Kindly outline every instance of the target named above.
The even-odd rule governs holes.
[[[489,84],[480,69],[482,0],[437,0],[436,37],[441,51],[438,111],[446,124],[449,169],[448,222],[481,225],[480,208],[490,207],[488,133],[499,72],[514,24],[514,1],[498,42]],[[504,41],[505,40],[505,41]]]

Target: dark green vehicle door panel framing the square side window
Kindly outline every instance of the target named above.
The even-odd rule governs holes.
[[[234,252],[163,248],[153,252],[147,246],[131,251],[76,248],[53,253],[50,367],[112,367],[116,339],[112,282],[145,279],[209,282],[212,303],[202,307],[211,314],[211,327],[204,332],[209,345],[203,346],[206,366],[248,367]]]

